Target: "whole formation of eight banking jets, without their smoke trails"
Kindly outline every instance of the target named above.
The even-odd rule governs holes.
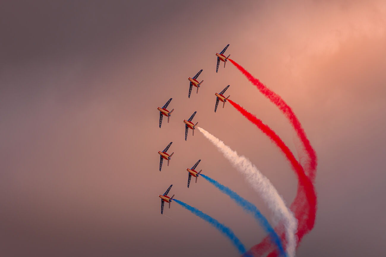
[[[220,61],[224,62],[224,68],[225,68],[225,64],[227,63],[228,61],[228,58],[230,55],[228,55],[227,57],[225,57],[224,53],[225,51],[227,50],[227,48],[229,47],[229,44],[220,52],[220,53],[216,53],[216,56],[217,56],[217,67],[216,67],[216,73],[218,72],[218,66],[220,65]],[[204,80],[202,80],[201,82],[198,82],[198,76],[200,76],[201,72],[203,70],[201,69],[199,72],[197,72],[197,74],[194,76],[194,77],[188,77],[188,80],[189,80],[189,94],[188,94],[188,98],[190,98],[190,94],[191,94],[191,91],[193,89],[193,86],[197,87],[197,94],[198,94],[198,89],[200,88],[202,82]],[[217,106],[218,106],[218,103],[221,101],[223,102],[223,105],[222,105],[222,108],[224,108],[225,106],[225,102],[228,100],[228,97],[225,97],[224,96],[224,93],[225,91],[227,91],[227,89],[229,88],[229,85],[227,87],[225,87],[223,89],[223,91],[221,91],[220,93],[215,93],[215,96],[216,96],[216,105],[215,105],[215,112],[217,110]],[[168,107],[168,105],[170,104],[172,98],[169,99],[169,101],[166,102],[166,104],[161,108],[161,107],[158,107],[158,111],[159,111],[159,128],[161,128],[161,124],[162,124],[162,118],[163,116],[167,116],[168,117],[168,123],[169,123],[169,118],[171,116],[171,113],[174,111],[174,109],[172,109],[171,111],[168,111],[166,108]],[[185,141],[186,141],[186,138],[188,137],[188,130],[191,129],[192,132],[193,132],[193,136],[194,136],[194,131],[196,129],[196,126],[198,124],[198,122],[196,122],[196,124],[194,124],[192,122],[194,116],[196,115],[196,111],[190,116],[190,118],[188,120],[183,120],[184,124],[185,124]],[[166,153],[169,149],[169,147],[171,146],[173,142],[170,142],[168,144],[168,146],[166,146],[166,148],[163,150],[163,151],[158,151],[159,153],[159,171],[161,171],[161,168],[162,168],[162,163],[163,163],[163,160],[168,160],[168,166],[169,166],[169,161],[171,159],[171,156],[174,154],[171,153],[171,155],[169,155],[168,153]],[[197,168],[198,164],[200,163],[201,160],[198,160],[196,162],[195,165],[193,165],[192,168],[187,168],[186,171],[188,171],[188,188],[189,188],[189,185],[190,185],[190,180],[191,180],[191,177],[194,176],[196,178],[196,183],[197,183],[197,178],[198,176],[200,175],[201,171],[196,171],[195,169]],[[158,195],[159,198],[161,198],[161,214],[163,214],[164,212],[164,203],[167,202],[169,203],[169,208],[170,208],[170,203],[171,201],[173,200],[173,197],[168,197],[168,193],[171,189],[173,185],[170,185],[168,190],[166,190],[166,192],[163,194],[163,195]]]

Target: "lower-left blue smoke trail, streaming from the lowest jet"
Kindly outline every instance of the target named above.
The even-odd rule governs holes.
[[[240,242],[240,239],[238,239],[235,235],[235,233],[227,226],[224,224],[218,222],[215,218],[210,217],[208,214],[205,214],[198,210],[197,208],[191,207],[190,205],[179,201],[177,199],[173,199],[176,203],[179,205],[183,206],[185,209],[190,210],[193,214],[197,215],[198,217],[202,218],[203,220],[207,221],[212,225],[213,227],[217,228],[218,231],[220,231],[223,235],[229,238],[230,241],[232,241],[232,244],[239,250],[240,254],[245,253],[245,247]]]

